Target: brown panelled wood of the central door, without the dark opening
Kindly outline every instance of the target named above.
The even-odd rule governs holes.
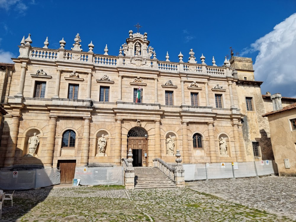
[[[128,150],[141,149],[142,150],[142,166],[148,166],[148,150],[147,150],[148,141],[145,137],[129,137],[128,138]],[[145,157],[145,153],[147,157]]]

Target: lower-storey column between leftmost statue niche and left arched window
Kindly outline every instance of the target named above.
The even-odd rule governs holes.
[[[44,167],[52,167],[52,162],[54,159],[54,145],[55,145],[55,134],[57,129],[57,117],[50,116],[49,117],[49,124],[48,124],[48,133],[47,133],[47,140],[46,140],[46,150],[45,150],[45,157],[44,157]]]

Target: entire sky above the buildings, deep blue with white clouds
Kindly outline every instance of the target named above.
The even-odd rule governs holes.
[[[18,56],[23,36],[31,34],[32,46],[57,49],[64,37],[66,49],[81,36],[81,48],[118,55],[128,31],[147,32],[156,56],[178,62],[193,48],[207,64],[215,56],[222,65],[229,47],[252,57],[255,78],[264,81],[262,94],[270,91],[296,97],[296,1],[56,1],[0,0],[0,62]],[[294,52],[295,51],[295,52]]]

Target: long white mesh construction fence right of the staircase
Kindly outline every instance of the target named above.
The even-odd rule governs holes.
[[[185,181],[263,176],[277,173],[272,160],[183,164]]]

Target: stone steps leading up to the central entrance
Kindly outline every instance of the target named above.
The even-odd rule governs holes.
[[[134,167],[135,189],[176,188],[176,184],[157,167]]]

